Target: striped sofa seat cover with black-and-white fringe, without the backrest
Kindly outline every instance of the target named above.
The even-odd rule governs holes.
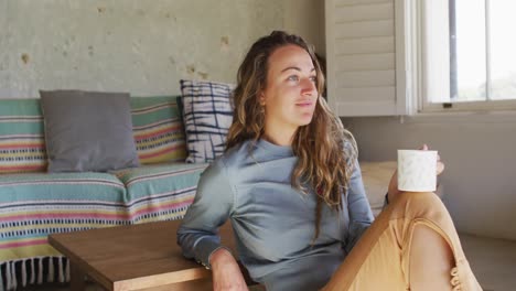
[[[0,175],[0,290],[68,279],[49,234],[182,218],[205,168],[171,163],[115,175]]]

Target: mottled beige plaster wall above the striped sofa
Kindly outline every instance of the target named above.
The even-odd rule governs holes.
[[[39,89],[178,94],[235,82],[249,45],[282,29],[277,0],[0,0],[0,98]]]

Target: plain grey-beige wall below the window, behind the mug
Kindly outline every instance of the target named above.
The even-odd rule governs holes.
[[[344,118],[364,161],[396,160],[397,149],[427,143],[439,151],[444,204],[462,233],[516,240],[516,122],[514,117]],[[386,186],[387,190],[387,186]]]

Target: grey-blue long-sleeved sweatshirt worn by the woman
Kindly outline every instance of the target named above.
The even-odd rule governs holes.
[[[239,259],[255,281],[272,291],[318,290],[374,219],[358,163],[343,211],[323,206],[311,245],[316,198],[291,186],[298,158],[290,147],[250,144],[232,148],[202,174],[178,244],[186,258],[209,267],[209,256],[223,247],[217,229],[230,219]]]

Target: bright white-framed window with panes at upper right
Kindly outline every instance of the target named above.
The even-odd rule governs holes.
[[[405,1],[419,111],[516,109],[516,1]]]

